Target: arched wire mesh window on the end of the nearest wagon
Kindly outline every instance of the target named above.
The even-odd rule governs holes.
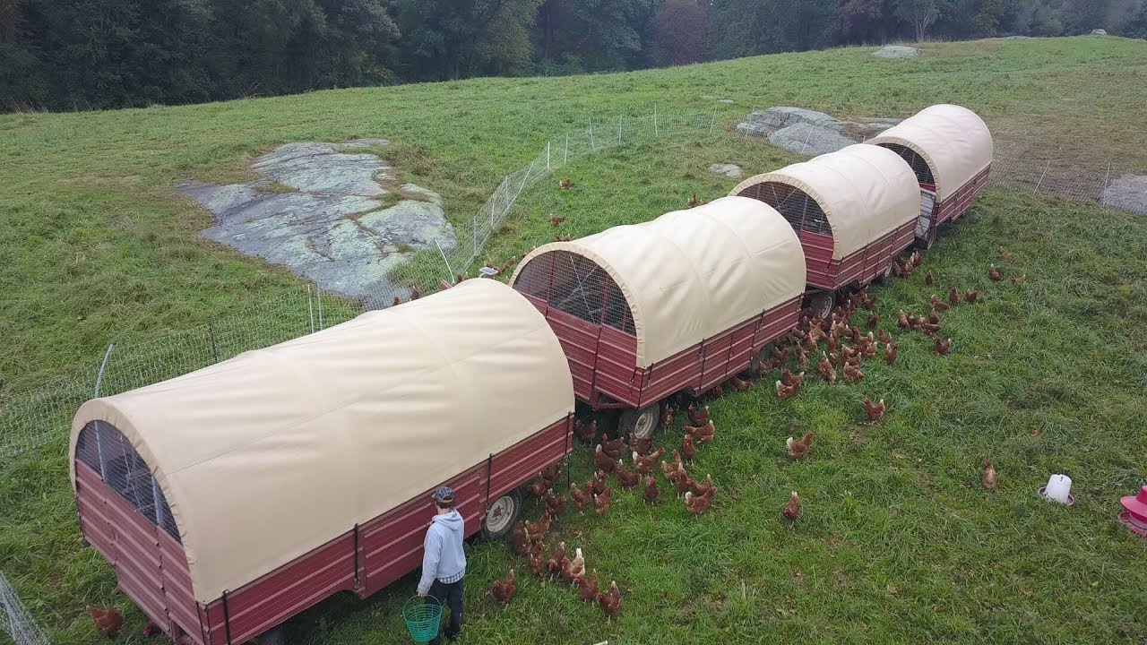
[[[91,421],[79,433],[76,458],[100,474],[108,488],[132,508],[179,539],[167,499],[151,475],[151,468],[115,426]]]

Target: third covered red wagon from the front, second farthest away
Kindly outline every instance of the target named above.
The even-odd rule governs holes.
[[[912,168],[864,143],[750,177],[729,195],[773,207],[796,231],[811,304],[826,317],[836,290],[891,273],[892,258],[912,246],[920,212]]]

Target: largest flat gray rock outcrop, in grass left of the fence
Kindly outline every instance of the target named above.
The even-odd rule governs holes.
[[[387,280],[420,250],[458,247],[442,196],[395,186],[396,170],[362,151],[385,139],[287,143],[257,158],[258,178],[180,192],[214,213],[204,238],[282,264],[323,290],[350,297],[395,292]],[[286,188],[286,189],[284,189]]]

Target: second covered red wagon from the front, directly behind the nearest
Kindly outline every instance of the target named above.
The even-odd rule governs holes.
[[[538,247],[510,283],[557,334],[577,397],[645,436],[663,398],[736,375],[796,324],[804,274],[780,213],[725,197]]]

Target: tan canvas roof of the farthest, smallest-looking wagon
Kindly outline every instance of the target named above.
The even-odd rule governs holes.
[[[992,133],[976,112],[960,106],[924,108],[867,143],[906,146],[928,163],[936,199],[946,200],[992,163]]]

